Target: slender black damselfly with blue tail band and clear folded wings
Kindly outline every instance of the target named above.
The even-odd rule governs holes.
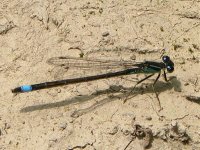
[[[154,81],[153,86],[160,78],[161,72],[164,72],[164,79],[167,80],[166,77],[166,70],[168,73],[174,71],[174,63],[170,59],[169,56],[162,56],[162,61],[144,61],[141,63],[133,63],[130,61],[101,61],[101,60],[93,60],[93,59],[84,59],[84,58],[72,58],[72,57],[53,57],[48,60],[49,63],[56,64],[56,65],[65,65],[66,67],[76,67],[76,68],[91,68],[91,67],[98,67],[99,69],[105,68],[117,68],[117,67],[124,67],[121,71],[109,72],[99,75],[93,76],[85,76],[79,78],[71,78],[65,80],[57,80],[51,82],[44,82],[39,84],[32,84],[32,85],[23,85],[20,87],[16,87],[12,89],[13,93],[23,93],[23,92],[30,92],[35,90],[41,90],[46,88],[52,88],[61,85],[68,85],[68,84],[75,84],[81,82],[88,82],[93,80],[99,79],[106,79],[111,77],[118,77],[118,76],[125,76],[131,74],[149,74],[144,79],[138,81],[136,85],[145,81],[146,79],[152,77],[154,74],[158,74],[157,78]],[[135,86],[136,86],[135,85]]]

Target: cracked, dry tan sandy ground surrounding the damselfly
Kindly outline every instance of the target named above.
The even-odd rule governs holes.
[[[175,70],[156,84],[161,111],[156,76],[131,94],[142,75],[11,92],[96,72],[51,57],[159,60],[162,49]],[[199,0],[1,0],[0,149],[200,149],[199,60]]]

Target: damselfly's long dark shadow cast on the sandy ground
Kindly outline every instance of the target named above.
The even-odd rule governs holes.
[[[106,98],[98,101],[97,103],[93,104],[92,106],[85,108],[85,109],[79,109],[74,111],[74,113],[71,115],[72,117],[78,117],[81,116],[87,112],[93,111],[98,107],[103,106],[106,103],[115,101],[115,100],[123,100],[124,98],[130,99],[132,97],[135,97],[139,94],[148,94],[148,93],[154,93],[155,91],[152,89],[152,83],[145,84],[144,86],[138,86],[138,87],[130,87],[126,88],[123,86],[111,86],[108,89],[105,90],[98,90],[96,92],[93,92],[90,95],[81,95],[76,96],[71,99],[65,99],[63,101],[54,102],[54,103],[47,103],[47,104],[40,104],[40,105],[34,105],[34,106],[28,106],[25,108],[22,108],[20,110],[21,113],[27,113],[37,110],[44,110],[44,109],[51,109],[56,107],[63,107],[68,105],[75,105],[75,104],[81,104],[87,101],[90,101],[92,99],[97,98],[98,96],[102,95],[108,95]],[[177,88],[177,86],[181,86],[180,82],[177,79],[173,78],[173,82],[166,83],[163,81],[158,81],[155,86],[155,90],[157,93],[164,92],[166,90],[170,90],[172,88]]]

